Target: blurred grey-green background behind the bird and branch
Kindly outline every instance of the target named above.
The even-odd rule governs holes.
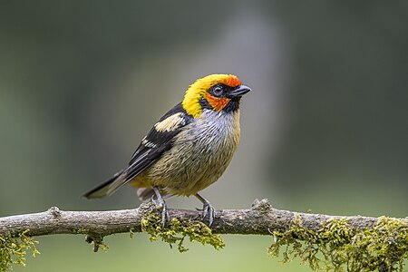
[[[120,170],[195,79],[235,73],[241,144],[203,194],[217,209],[406,217],[408,2],[0,2],[0,216],[139,205],[83,191]],[[200,207],[175,198],[170,208]],[[15,271],[309,271],[267,257],[273,238],[225,236],[187,253],[144,234],[39,238]]]

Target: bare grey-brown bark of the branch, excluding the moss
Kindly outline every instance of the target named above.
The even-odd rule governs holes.
[[[151,214],[154,207],[143,203],[137,209],[110,211],[64,211],[53,207],[44,212],[0,218],[0,235],[22,232],[27,235],[89,234],[104,237],[113,233],[141,232],[141,221]],[[200,219],[196,210],[169,209],[170,219],[181,222],[186,219]],[[257,234],[271,235],[274,231],[285,232],[300,219],[302,225],[318,231],[330,219],[347,219],[352,228],[374,228],[377,219],[370,217],[340,217],[322,214],[293,212],[273,209],[267,199],[255,200],[250,209],[223,209],[211,226],[215,234]],[[402,219],[407,221],[407,219]]]

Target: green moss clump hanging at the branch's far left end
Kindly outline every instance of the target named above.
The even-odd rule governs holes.
[[[25,267],[25,255],[28,249],[33,252],[33,257],[40,254],[35,248],[38,242],[27,236],[27,232],[28,229],[15,235],[0,235],[0,272],[11,270],[12,265]]]

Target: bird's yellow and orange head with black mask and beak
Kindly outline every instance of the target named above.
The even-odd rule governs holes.
[[[193,117],[199,117],[204,109],[217,112],[235,112],[242,95],[251,91],[233,74],[210,74],[192,83],[182,105]]]

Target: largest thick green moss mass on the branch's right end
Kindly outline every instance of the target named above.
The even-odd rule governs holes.
[[[352,228],[348,219],[331,219],[317,231],[305,228],[298,217],[286,232],[275,232],[268,254],[283,262],[300,257],[313,270],[403,271],[408,257],[408,224],[379,218],[374,228]],[[322,267],[322,265],[324,267]]]

